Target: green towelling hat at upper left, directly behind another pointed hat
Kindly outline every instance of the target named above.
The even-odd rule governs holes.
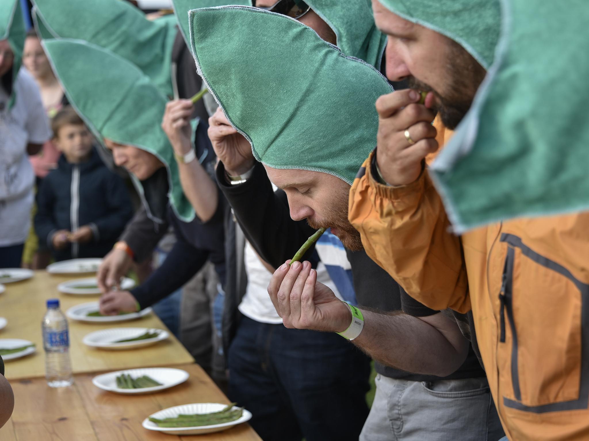
[[[88,41],[137,65],[166,96],[173,95],[172,46],[176,25],[149,21],[121,0],[32,0],[41,38]]]

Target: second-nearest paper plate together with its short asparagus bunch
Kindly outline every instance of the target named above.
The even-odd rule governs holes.
[[[103,373],[92,379],[94,386],[109,392],[137,395],[169,389],[184,383],[188,372],[174,368],[145,368]]]

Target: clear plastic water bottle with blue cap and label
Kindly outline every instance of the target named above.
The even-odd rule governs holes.
[[[47,312],[41,323],[45,348],[45,378],[51,387],[70,386],[74,382],[70,365],[68,321],[59,309],[58,299],[47,300]]]

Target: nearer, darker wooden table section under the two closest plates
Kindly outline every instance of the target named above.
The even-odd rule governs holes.
[[[53,389],[44,378],[12,381],[15,408],[0,429],[2,441],[261,441],[247,423],[210,435],[173,436],[144,429],[145,417],[189,403],[229,403],[200,366],[177,366],[186,383],[150,395],[120,395],[92,384],[97,374],[75,375],[74,385]]]

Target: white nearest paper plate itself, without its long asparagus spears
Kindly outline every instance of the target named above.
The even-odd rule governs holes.
[[[238,424],[245,423],[252,418],[252,413],[249,410],[243,409],[243,415],[241,418],[231,421],[229,423],[214,424],[210,426],[199,426],[199,427],[158,427],[157,424],[151,422],[150,417],[153,418],[173,418],[178,416],[180,413],[211,413],[219,412],[223,410],[227,405],[220,403],[193,403],[189,405],[168,407],[167,409],[160,410],[160,412],[152,413],[150,416],[143,420],[142,426],[145,429],[156,430],[157,432],[169,433],[170,435],[202,435],[204,433],[221,432],[221,430],[229,429],[230,427],[237,426]],[[233,409],[237,409],[234,406]]]

